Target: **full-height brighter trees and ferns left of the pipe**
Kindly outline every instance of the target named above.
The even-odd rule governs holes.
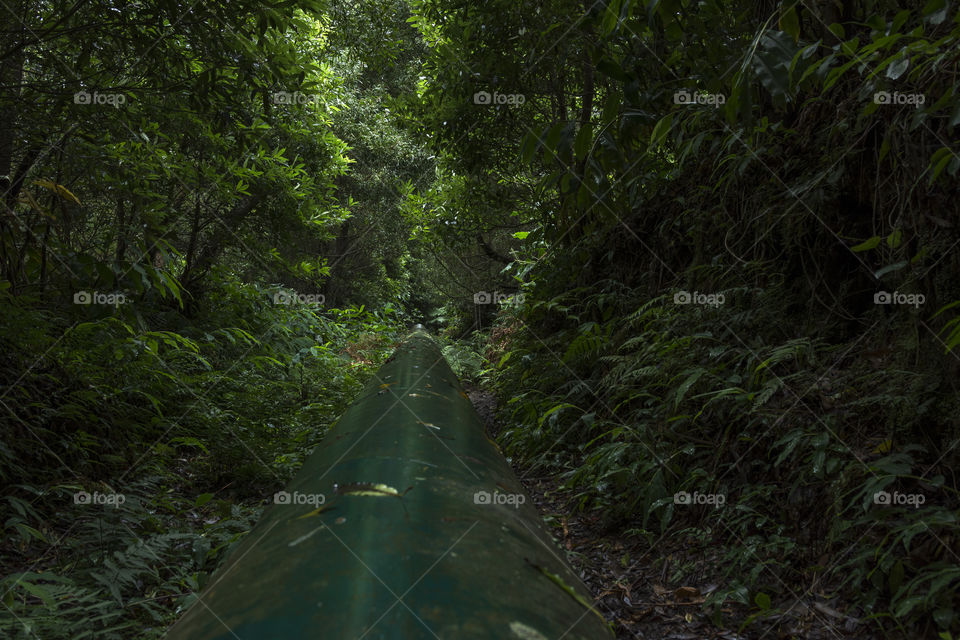
[[[159,637],[408,321],[423,152],[291,4],[5,6],[3,637]]]

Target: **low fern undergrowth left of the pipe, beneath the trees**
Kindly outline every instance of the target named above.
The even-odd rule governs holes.
[[[160,637],[391,352],[395,313],[278,291],[4,300],[0,636]]]

